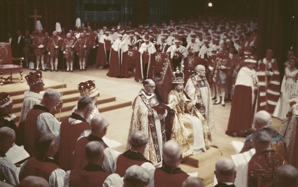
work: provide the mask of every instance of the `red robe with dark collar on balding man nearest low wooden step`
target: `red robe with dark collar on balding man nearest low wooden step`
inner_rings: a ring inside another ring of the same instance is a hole
[[[169,166],[164,164],[161,168],[155,169],[154,186],[181,187],[183,181],[188,177],[189,175],[180,168],[172,170]]]

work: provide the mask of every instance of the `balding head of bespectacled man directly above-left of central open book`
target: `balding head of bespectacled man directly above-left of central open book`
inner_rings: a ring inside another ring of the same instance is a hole
[[[103,138],[106,135],[108,125],[106,116],[102,114],[94,116],[91,120],[91,134]]]

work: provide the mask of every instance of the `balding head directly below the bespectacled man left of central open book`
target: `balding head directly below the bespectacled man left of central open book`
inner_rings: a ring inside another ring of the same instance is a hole
[[[85,146],[85,155],[88,163],[98,163],[103,161],[104,146],[99,141],[91,141]]]

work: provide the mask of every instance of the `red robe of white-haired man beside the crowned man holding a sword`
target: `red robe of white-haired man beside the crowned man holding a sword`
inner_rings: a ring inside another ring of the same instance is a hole
[[[37,128],[37,117],[39,114],[48,112],[49,110],[41,105],[34,105],[27,113],[25,125],[21,133],[22,143],[24,149],[29,153],[31,157],[37,156],[37,150],[35,149],[35,142],[40,136],[40,132]]]

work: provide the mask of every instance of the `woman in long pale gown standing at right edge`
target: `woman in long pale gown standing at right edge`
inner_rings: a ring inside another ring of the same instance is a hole
[[[272,116],[283,120],[289,109],[290,105],[288,101],[290,100],[291,92],[298,92],[298,69],[295,67],[297,65],[297,58],[292,56],[289,59],[289,67],[285,68],[284,77],[282,80],[281,94],[278,99],[277,105]]]

